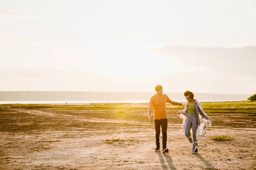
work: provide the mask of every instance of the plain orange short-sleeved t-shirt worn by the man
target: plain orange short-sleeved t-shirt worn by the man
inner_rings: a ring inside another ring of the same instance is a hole
[[[148,107],[153,107],[154,119],[167,119],[166,102],[171,102],[166,94],[151,97]]]

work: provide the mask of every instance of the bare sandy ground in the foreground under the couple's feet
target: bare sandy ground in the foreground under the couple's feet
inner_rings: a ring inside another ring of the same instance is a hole
[[[170,151],[162,153],[154,151],[154,124],[147,121],[146,111],[123,113],[137,115],[127,120],[116,111],[4,109],[0,112],[0,170],[256,169],[255,116],[243,119],[237,114],[239,119],[230,119],[226,126],[213,121],[199,142],[199,152],[192,154],[175,113],[168,115]],[[221,115],[215,114],[215,119],[224,121]],[[228,126],[229,122],[244,126]],[[236,140],[209,140],[222,134]],[[107,139],[124,141],[107,143]]]

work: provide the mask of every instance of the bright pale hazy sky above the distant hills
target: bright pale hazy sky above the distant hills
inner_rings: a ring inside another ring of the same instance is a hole
[[[0,91],[255,94],[255,21],[254,0],[0,0]]]

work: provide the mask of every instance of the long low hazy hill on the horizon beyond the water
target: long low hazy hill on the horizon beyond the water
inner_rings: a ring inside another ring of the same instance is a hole
[[[155,93],[141,92],[81,92],[81,91],[0,91],[0,101],[65,101],[65,100],[149,100]],[[183,93],[166,93],[172,100],[184,100]],[[241,101],[247,94],[195,93],[203,101]]]

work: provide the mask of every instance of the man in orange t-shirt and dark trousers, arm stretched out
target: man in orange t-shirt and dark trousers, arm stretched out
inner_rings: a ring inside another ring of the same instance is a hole
[[[157,85],[155,87],[155,91],[157,94],[151,97],[150,102],[148,104],[148,119],[149,122],[153,123],[153,119],[151,118],[151,110],[154,109],[154,125],[156,130],[156,145],[155,151],[160,150],[160,127],[162,127],[163,134],[163,153],[169,152],[169,149],[166,147],[167,142],[167,110],[166,110],[166,102],[171,103],[172,105],[181,105],[184,108],[182,103],[174,102],[166,94],[163,94],[163,86]]]

